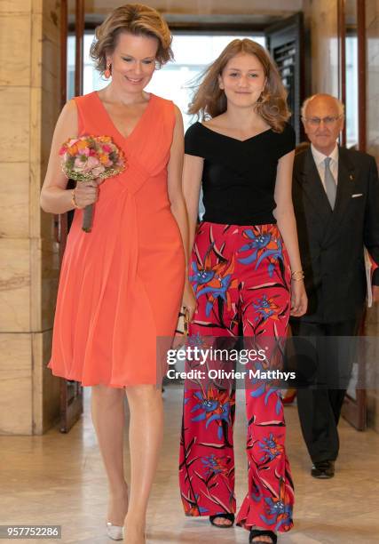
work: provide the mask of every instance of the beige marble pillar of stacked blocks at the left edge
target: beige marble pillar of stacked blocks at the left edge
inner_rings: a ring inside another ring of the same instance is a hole
[[[0,434],[42,434],[59,415],[46,369],[59,275],[39,193],[59,115],[56,0],[0,2]]]

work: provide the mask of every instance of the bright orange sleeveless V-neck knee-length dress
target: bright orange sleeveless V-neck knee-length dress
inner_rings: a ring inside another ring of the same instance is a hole
[[[182,238],[167,188],[174,105],[151,94],[124,138],[97,92],[75,103],[79,135],[112,136],[128,166],[99,186],[91,233],[83,232],[83,211],[75,210],[48,367],[83,386],[155,384],[157,341],[167,343],[175,332],[185,281]]]

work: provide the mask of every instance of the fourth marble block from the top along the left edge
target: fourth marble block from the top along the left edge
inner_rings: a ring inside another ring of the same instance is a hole
[[[30,252],[25,238],[0,238],[0,332],[30,331]]]

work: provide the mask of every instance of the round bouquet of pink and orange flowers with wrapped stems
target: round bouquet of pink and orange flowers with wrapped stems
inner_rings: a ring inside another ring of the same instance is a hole
[[[126,168],[125,156],[110,136],[82,136],[70,138],[59,149],[62,170],[69,180],[85,183],[106,180]],[[85,232],[91,232],[93,204],[84,208]]]

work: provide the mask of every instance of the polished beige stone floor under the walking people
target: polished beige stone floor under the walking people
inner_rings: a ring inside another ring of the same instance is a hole
[[[239,392],[235,428],[236,492],[239,502],[246,484],[243,450],[245,420]],[[85,389],[83,419],[67,434],[52,428],[44,436],[0,436],[0,524],[60,524],[61,540],[108,544],[104,532],[106,480]],[[178,495],[178,434],[181,391],[164,394],[166,428],[159,472],[148,511],[148,544],[247,543],[241,528],[217,530],[207,518],[183,516]],[[293,531],[282,544],[355,543],[379,541],[379,435],[359,433],[340,425],[341,454],[332,480],[314,480],[302,442],[296,406],[286,407],[288,455],[296,484]],[[128,451],[125,452],[126,462]],[[36,540],[18,540],[30,542]]]

